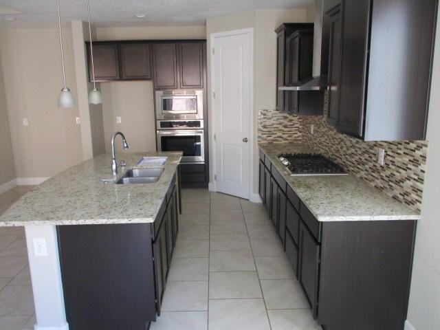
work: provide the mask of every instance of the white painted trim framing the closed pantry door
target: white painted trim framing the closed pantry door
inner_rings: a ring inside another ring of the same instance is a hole
[[[215,134],[215,123],[214,123],[214,112],[215,112],[215,108],[214,108],[214,97],[213,97],[213,93],[212,93],[212,87],[214,86],[214,58],[213,58],[213,54],[212,54],[212,48],[214,47],[214,39],[221,37],[221,36],[235,36],[237,34],[250,34],[250,126],[249,126],[249,132],[250,132],[250,137],[249,137],[249,144],[250,144],[250,150],[249,150],[249,166],[250,166],[250,170],[249,170],[249,197],[250,200],[253,199],[252,195],[253,195],[253,191],[254,191],[254,28],[245,28],[245,29],[240,29],[240,30],[232,30],[232,31],[223,31],[223,32],[216,32],[216,33],[212,33],[210,34],[210,47],[211,49],[208,50],[209,54],[210,54],[210,67],[211,67],[211,91],[210,91],[210,108],[211,108],[211,116],[210,116],[210,122],[211,122],[211,133],[210,133],[210,140],[212,142],[212,145],[210,146],[210,150],[212,150],[212,178],[214,178],[215,173],[217,172],[216,170],[216,155],[215,155],[215,140],[214,140],[214,134]],[[209,190],[211,191],[217,191],[217,186],[216,186],[216,182],[214,181],[212,184],[210,182],[210,187]],[[213,188],[212,188],[213,187]]]

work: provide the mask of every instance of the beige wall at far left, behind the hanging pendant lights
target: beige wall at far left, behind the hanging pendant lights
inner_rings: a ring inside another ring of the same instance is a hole
[[[72,32],[63,30],[67,85],[76,100]],[[58,29],[0,33],[0,56],[17,177],[51,177],[83,160],[78,108],[61,109]],[[23,126],[28,118],[29,126]],[[2,156],[3,157],[3,156]]]

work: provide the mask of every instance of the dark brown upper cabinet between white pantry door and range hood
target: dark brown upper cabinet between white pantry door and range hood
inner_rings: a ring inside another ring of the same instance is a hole
[[[284,23],[277,34],[276,109],[285,113],[320,115],[323,91],[281,91],[278,87],[303,85],[312,76],[313,23]]]

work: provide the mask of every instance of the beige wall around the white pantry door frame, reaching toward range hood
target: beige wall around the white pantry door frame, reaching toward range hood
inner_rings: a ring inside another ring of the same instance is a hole
[[[310,9],[309,9],[310,11]],[[258,194],[258,146],[257,146],[257,114],[259,109],[274,109],[276,106],[276,33],[274,30],[281,23],[307,22],[312,14],[307,14],[307,9],[292,10],[254,10],[223,17],[208,18],[206,20],[206,39],[208,50],[210,35],[215,32],[254,29],[254,177],[252,178],[254,194]],[[210,54],[210,52],[208,52]],[[210,56],[208,56],[208,86],[210,87]],[[212,91],[208,89],[208,96]],[[208,115],[211,115],[211,102],[208,97]],[[210,123],[211,124],[211,123]],[[210,125],[212,132],[212,125]],[[210,146],[213,141],[210,137]],[[213,159],[213,148],[210,148],[210,159]],[[210,163],[210,181],[213,180],[212,163]]]

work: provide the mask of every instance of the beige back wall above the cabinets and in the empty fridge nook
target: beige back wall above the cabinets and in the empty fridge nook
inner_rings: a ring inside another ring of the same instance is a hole
[[[99,41],[206,38],[204,26],[98,28],[96,33]],[[117,81],[101,83],[100,86],[106,152],[111,152],[110,139],[115,131],[125,134],[130,146],[127,152],[155,151],[152,81]],[[118,115],[121,116],[122,124],[116,124]],[[116,150],[122,151],[119,142]]]

